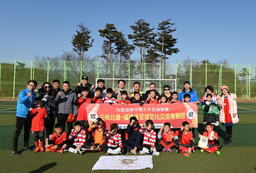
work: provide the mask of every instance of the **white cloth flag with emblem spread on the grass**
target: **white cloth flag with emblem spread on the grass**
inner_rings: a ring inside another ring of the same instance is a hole
[[[93,170],[97,169],[145,169],[153,168],[152,155],[143,156],[101,156]]]

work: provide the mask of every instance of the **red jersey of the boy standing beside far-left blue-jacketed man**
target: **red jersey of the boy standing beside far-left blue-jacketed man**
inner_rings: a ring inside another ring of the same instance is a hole
[[[46,108],[32,108],[30,116],[32,118],[31,130],[33,132],[44,131],[44,118],[47,118]]]

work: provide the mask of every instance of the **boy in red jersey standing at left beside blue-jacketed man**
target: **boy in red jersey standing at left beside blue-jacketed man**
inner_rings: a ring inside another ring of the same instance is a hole
[[[47,111],[42,107],[41,97],[36,97],[34,104],[36,108],[29,108],[27,118],[32,118],[31,130],[36,145],[35,153],[44,152],[44,127],[47,123]],[[40,147],[39,147],[40,140]]]

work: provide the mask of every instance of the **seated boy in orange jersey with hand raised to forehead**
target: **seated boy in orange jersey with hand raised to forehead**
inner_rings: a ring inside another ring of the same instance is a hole
[[[103,120],[101,118],[97,118],[91,127],[89,127],[89,132],[94,132],[94,142],[90,144],[86,144],[86,148],[95,148],[93,152],[102,151],[105,146],[107,146],[107,130],[102,126]],[[97,127],[95,127],[97,125]]]

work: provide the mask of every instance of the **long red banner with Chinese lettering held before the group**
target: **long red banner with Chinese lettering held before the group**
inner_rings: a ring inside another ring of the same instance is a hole
[[[101,118],[103,127],[109,129],[111,123],[117,123],[119,128],[125,129],[130,123],[131,116],[136,116],[139,124],[152,120],[154,128],[160,128],[165,122],[171,128],[180,128],[182,122],[187,121],[189,127],[198,127],[198,110],[196,102],[175,104],[86,104],[89,124]]]

